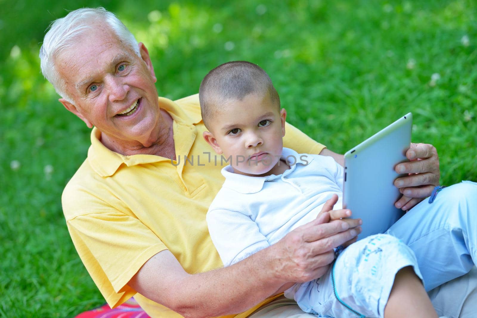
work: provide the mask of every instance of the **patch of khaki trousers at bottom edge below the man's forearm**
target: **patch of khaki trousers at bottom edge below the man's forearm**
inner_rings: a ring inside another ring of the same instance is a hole
[[[310,318],[315,317],[303,312],[297,303],[281,296],[255,310],[250,318]]]

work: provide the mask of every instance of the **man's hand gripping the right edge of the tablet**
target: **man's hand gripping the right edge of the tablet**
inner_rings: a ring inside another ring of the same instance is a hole
[[[431,195],[439,185],[439,156],[433,145],[411,143],[406,151],[409,162],[403,162],[394,168],[397,173],[408,173],[407,177],[397,178],[394,185],[403,194],[394,204],[396,208],[408,210]]]

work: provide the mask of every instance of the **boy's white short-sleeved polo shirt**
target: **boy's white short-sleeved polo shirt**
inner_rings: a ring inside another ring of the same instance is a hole
[[[212,241],[224,266],[249,257],[316,218],[333,194],[342,207],[343,168],[332,157],[283,148],[290,169],[249,177],[222,169],[226,178],[207,212]]]

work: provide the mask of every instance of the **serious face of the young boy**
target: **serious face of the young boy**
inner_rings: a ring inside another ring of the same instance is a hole
[[[272,103],[268,93],[252,93],[242,100],[228,102],[225,110],[216,111],[210,132],[205,131],[203,136],[218,154],[226,159],[231,157],[236,173],[273,173],[283,148],[286,115],[285,109],[279,111]]]

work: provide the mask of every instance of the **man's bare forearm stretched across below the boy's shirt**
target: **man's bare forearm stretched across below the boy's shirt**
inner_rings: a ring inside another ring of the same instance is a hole
[[[185,275],[162,290],[162,302],[184,317],[211,317],[243,312],[283,285],[274,277],[267,250],[227,268]]]

